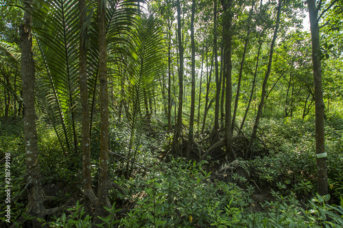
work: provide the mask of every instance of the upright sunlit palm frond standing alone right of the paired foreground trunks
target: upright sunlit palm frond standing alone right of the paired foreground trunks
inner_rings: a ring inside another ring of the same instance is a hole
[[[128,160],[131,159],[134,131],[144,123],[142,107],[145,101],[154,97],[154,88],[163,71],[163,47],[161,30],[153,15],[142,16],[132,32],[131,58],[128,58],[127,72],[123,78],[126,99],[126,116],[130,125],[130,146]],[[136,155],[134,154],[134,157]],[[134,158],[133,158],[134,160]],[[128,176],[129,164],[126,166]]]

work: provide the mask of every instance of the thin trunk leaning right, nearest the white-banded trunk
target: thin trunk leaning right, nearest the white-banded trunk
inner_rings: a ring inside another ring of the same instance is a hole
[[[248,157],[250,157],[249,149],[250,149],[250,146],[252,145],[252,142],[254,142],[254,140],[256,138],[257,128],[259,127],[259,120],[261,118],[262,111],[263,111],[263,104],[264,104],[264,100],[265,100],[265,94],[267,92],[268,77],[269,77],[270,71],[272,69],[274,45],[275,45],[275,41],[276,41],[278,30],[279,30],[280,14],[281,14],[281,1],[282,0],[279,0],[279,5],[278,5],[278,8],[277,8],[278,11],[277,11],[277,15],[276,15],[276,25],[275,25],[275,29],[274,29],[274,35],[273,35],[273,38],[272,38],[272,44],[270,45],[268,67],[267,67],[267,71],[265,73],[265,77],[264,77],[264,80],[263,80],[261,101],[260,101],[259,107],[257,109],[257,115],[256,115],[256,118],[255,118],[255,124],[254,124],[254,127],[252,129],[251,139],[250,139],[248,148],[246,150],[246,159],[248,159]]]

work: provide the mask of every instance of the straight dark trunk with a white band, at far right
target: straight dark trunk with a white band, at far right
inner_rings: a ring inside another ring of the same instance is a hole
[[[320,1],[322,3],[322,1]],[[309,8],[309,22],[312,40],[312,64],[314,69],[314,102],[316,105],[316,155],[318,168],[318,194],[328,194],[327,183],[327,153],[324,141],[324,101],[322,96],[322,64],[320,55],[320,27],[318,25],[318,11],[322,5],[316,6],[316,0],[307,0]]]

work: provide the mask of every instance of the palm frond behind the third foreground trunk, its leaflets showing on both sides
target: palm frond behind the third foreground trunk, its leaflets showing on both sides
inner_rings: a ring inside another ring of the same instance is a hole
[[[108,62],[116,63],[121,61],[121,54],[128,55],[126,47],[128,39],[123,36],[128,36],[128,31],[137,22],[136,17],[140,14],[138,4],[142,0],[115,0],[108,1],[106,8],[106,44],[108,51]],[[95,9],[95,3],[88,5],[88,9]],[[91,105],[91,123],[95,110],[95,98],[97,92],[97,73],[98,73],[98,34],[97,34],[97,15],[94,13],[93,20],[90,25],[90,33],[88,33],[88,88],[91,90],[90,105]],[[115,74],[115,71],[108,71],[108,75]],[[92,127],[91,127],[92,129]]]

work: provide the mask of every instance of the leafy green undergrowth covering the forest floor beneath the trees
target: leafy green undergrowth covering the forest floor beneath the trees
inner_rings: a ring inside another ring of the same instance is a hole
[[[343,123],[328,116],[326,151],[329,194],[316,195],[314,123],[296,118],[263,118],[251,160],[194,162],[181,158],[161,160],[168,137],[142,134],[134,140],[137,151],[130,179],[121,177],[125,162],[111,155],[110,179],[122,190],[110,190],[113,208],[102,227],[342,227],[343,225]],[[247,123],[247,126],[251,123]],[[1,126],[0,152],[11,151],[14,188],[18,195],[13,219],[25,215],[25,153],[21,129]],[[62,153],[49,127],[39,129],[40,168],[43,184],[58,180],[81,186],[78,170],[70,170],[69,155]],[[97,136],[98,132],[93,133]],[[95,137],[96,138],[96,137]],[[93,148],[97,142],[93,141]],[[125,127],[110,127],[110,150],[128,153]],[[261,148],[259,148],[261,147]],[[263,148],[262,148],[263,147]],[[157,152],[158,151],[158,152]],[[93,151],[93,178],[97,179],[97,150]],[[209,159],[210,160],[210,159]],[[143,167],[142,167],[143,166]],[[225,168],[224,172],[219,171]],[[1,178],[3,178],[1,173]],[[17,178],[17,179],[16,179]],[[95,183],[96,184],[96,183]],[[22,195],[21,195],[22,194]],[[262,199],[257,201],[257,195]],[[1,192],[1,200],[5,197]],[[67,201],[69,196],[60,196]],[[55,199],[63,203],[61,199]],[[79,200],[82,198],[80,197]],[[47,227],[91,227],[82,203],[43,221]]]

